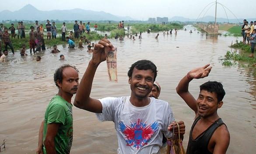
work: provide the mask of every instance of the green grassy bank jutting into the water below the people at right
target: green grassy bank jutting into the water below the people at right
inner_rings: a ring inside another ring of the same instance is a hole
[[[234,66],[241,65],[243,67],[254,67],[256,70],[256,57],[250,58],[248,57],[251,53],[251,47],[249,45],[243,44],[242,42],[236,41],[235,44],[230,47],[234,49],[239,49],[238,52],[230,52],[227,51],[225,54],[225,59],[222,60],[222,65],[224,66]],[[255,71],[256,72],[256,71]]]

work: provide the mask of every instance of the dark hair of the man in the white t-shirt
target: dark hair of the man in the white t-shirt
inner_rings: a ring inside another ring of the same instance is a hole
[[[154,73],[154,81],[156,80],[157,76],[157,70],[156,70],[156,65],[152,63],[150,60],[138,60],[134,64],[131,65],[130,70],[128,70],[128,77],[132,76],[132,72],[134,68],[138,70],[152,70]]]

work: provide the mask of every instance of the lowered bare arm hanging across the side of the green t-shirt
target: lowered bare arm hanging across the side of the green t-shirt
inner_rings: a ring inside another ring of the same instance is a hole
[[[54,138],[59,130],[58,123],[52,123],[47,125],[47,133],[44,141],[47,154],[56,154]]]

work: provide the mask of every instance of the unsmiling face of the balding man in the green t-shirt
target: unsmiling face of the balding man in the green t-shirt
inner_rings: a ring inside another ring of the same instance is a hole
[[[77,71],[72,67],[66,67],[62,71],[62,82],[57,80],[57,84],[64,93],[73,95],[76,94],[79,85],[78,80]]]

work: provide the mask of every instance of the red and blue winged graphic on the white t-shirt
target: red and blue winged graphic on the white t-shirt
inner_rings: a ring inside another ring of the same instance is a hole
[[[127,146],[133,146],[137,149],[143,147],[151,141],[151,137],[158,130],[159,123],[147,125],[142,123],[140,119],[137,119],[135,123],[130,123],[130,126],[126,126],[124,122],[119,123],[119,131],[121,131],[126,137],[125,142]]]

